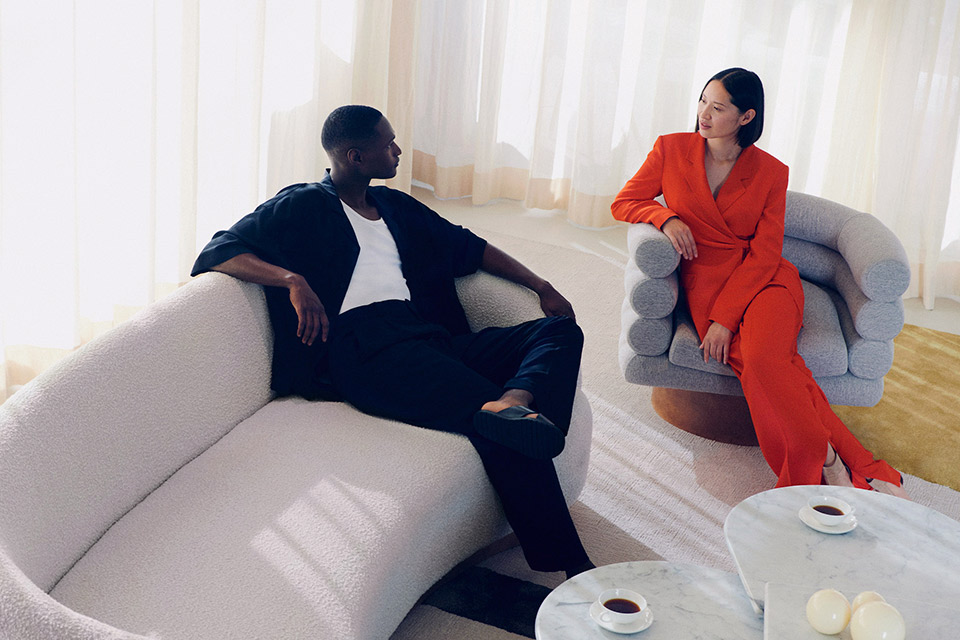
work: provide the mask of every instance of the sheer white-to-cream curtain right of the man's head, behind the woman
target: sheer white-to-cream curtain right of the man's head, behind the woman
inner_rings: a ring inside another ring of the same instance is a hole
[[[910,296],[960,296],[960,0],[422,0],[414,177],[440,197],[609,204],[717,71],[756,71],[790,188],[881,218]]]

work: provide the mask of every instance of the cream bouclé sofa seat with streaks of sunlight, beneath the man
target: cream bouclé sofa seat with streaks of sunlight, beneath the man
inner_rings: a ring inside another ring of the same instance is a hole
[[[558,458],[568,495],[589,423],[579,394]],[[385,639],[506,531],[466,438],[285,398],[121,518],[51,595],[159,638]]]

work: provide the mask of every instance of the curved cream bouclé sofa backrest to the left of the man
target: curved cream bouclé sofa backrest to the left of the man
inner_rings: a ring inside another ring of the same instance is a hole
[[[271,354],[262,289],[208,274],[18,391],[0,406],[0,554],[49,591],[270,400]]]

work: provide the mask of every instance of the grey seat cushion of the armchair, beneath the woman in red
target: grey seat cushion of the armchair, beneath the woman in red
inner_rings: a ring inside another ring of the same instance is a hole
[[[803,328],[797,341],[800,355],[814,377],[843,375],[847,371],[847,343],[840,329],[837,308],[830,295],[815,284],[803,285]],[[670,362],[707,373],[732,376],[729,365],[703,361],[700,338],[689,314],[678,314],[677,330],[670,344]]]

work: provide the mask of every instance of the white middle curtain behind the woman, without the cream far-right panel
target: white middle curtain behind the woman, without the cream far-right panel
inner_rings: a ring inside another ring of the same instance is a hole
[[[518,198],[608,226],[656,137],[691,129],[704,83],[731,66],[765,79],[761,145],[791,164],[794,188],[819,190],[849,1],[424,0],[421,12],[416,169],[441,197]]]

